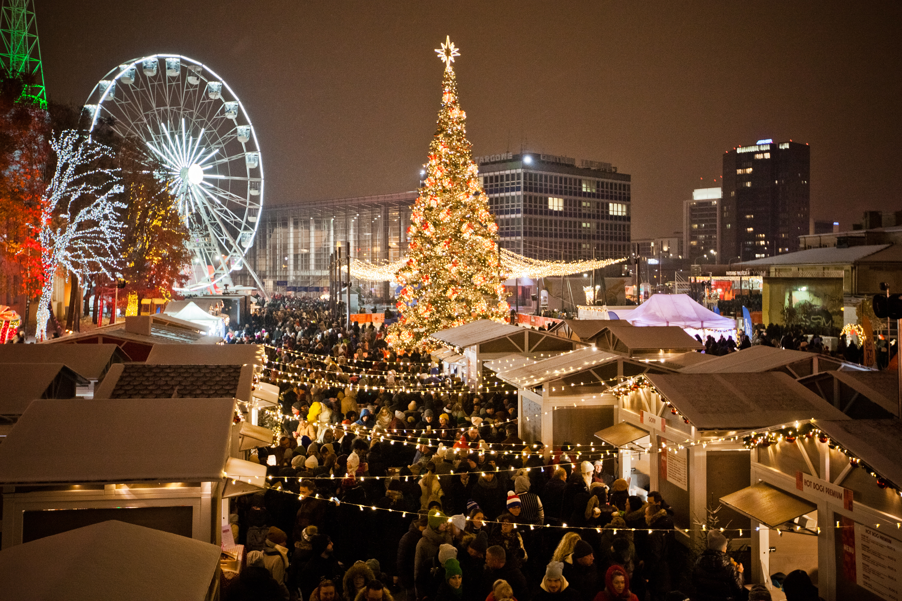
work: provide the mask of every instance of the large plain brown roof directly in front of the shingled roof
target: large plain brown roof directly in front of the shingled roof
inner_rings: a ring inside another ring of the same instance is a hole
[[[36,400],[0,444],[0,483],[223,478],[233,398]]]

